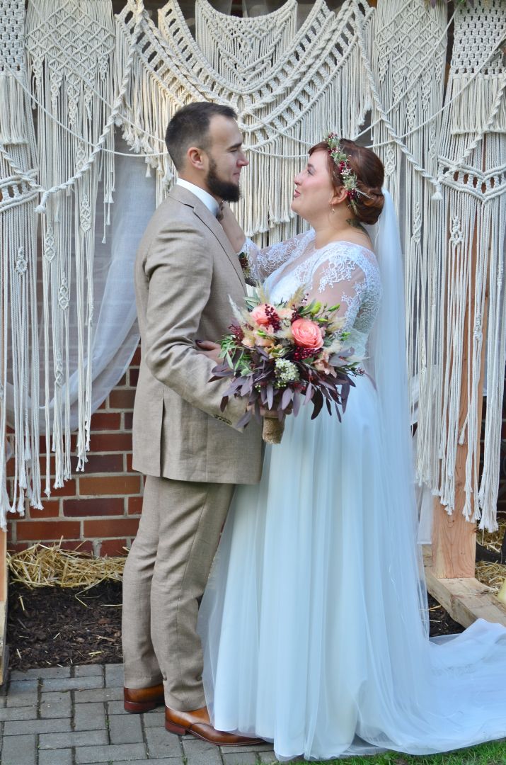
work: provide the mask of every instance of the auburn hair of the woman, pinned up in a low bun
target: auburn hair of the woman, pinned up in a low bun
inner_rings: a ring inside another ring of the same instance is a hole
[[[381,210],[383,210],[384,196],[381,187],[384,181],[384,167],[378,155],[365,146],[359,146],[355,141],[349,141],[342,138],[339,146],[348,157],[348,162],[352,172],[357,177],[358,194],[354,200],[354,206],[349,203],[349,208],[360,223],[372,225],[378,220]],[[332,184],[336,189],[342,187],[342,179],[339,175],[339,168],[329,154],[329,145],[322,141],[310,149],[310,155],[313,151],[324,149],[329,156],[329,172],[332,178]],[[355,208],[355,209],[354,209]]]

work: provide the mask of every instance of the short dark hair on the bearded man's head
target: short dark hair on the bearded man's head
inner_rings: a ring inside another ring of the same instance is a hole
[[[209,149],[209,123],[215,115],[237,119],[232,106],[197,101],[183,106],[167,125],[165,143],[176,170],[183,164],[190,146]]]

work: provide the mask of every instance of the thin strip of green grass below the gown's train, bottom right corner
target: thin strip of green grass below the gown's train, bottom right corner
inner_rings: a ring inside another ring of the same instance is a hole
[[[506,726],[506,721],[504,724]],[[445,754],[415,756],[413,754],[384,752],[384,754],[375,754],[372,757],[345,757],[341,760],[312,761],[312,765],[506,765],[506,741],[489,741],[478,747],[458,749]]]

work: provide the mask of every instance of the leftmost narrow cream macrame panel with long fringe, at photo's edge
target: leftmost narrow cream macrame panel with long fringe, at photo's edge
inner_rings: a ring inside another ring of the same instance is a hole
[[[0,0],[0,527],[41,507],[38,462],[37,148],[24,63],[24,0]],[[7,412],[12,418],[8,423]],[[7,425],[14,430],[7,437]],[[8,438],[8,441],[7,441]],[[7,457],[14,491],[6,490]]]

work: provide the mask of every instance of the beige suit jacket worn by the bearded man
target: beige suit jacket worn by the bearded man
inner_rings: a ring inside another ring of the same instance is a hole
[[[209,483],[256,483],[261,428],[235,426],[245,402],[220,402],[227,382],[209,382],[215,363],[195,340],[218,342],[245,281],[222,226],[190,190],[174,186],[155,211],[135,262],[141,369],[135,394],[133,467]]]

